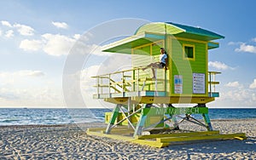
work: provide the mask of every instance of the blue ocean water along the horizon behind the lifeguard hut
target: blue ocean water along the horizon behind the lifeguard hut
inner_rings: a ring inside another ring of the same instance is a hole
[[[0,108],[0,126],[31,124],[103,123],[111,109]],[[201,118],[199,115],[195,115]],[[256,108],[209,108],[211,119],[256,118]]]

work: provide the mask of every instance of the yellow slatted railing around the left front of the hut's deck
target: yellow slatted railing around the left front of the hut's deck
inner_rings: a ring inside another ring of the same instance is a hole
[[[166,78],[149,78],[141,68],[116,71],[93,78],[96,78],[96,85],[94,86],[96,87],[96,94],[117,94],[143,90],[166,91],[166,87],[164,87],[166,86]]]

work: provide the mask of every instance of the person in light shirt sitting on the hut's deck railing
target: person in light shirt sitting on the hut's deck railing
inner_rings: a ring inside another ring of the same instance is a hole
[[[167,70],[167,61],[168,61],[168,57],[166,54],[166,50],[164,48],[160,48],[160,57],[159,57],[159,61],[155,62],[155,63],[151,63],[148,66],[143,68],[143,71],[146,70],[147,68],[151,68],[152,69],[152,73],[153,73],[153,79],[155,79],[155,72],[154,69],[155,68],[166,68]]]

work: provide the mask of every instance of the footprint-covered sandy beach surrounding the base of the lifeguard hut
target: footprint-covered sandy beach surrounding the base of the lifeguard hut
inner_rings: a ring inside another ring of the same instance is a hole
[[[256,119],[213,120],[221,133],[246,133],[247,140],[219,140],[153,148],[91,137],[104,123],[0,127],[0,159],[256,159]],[[189,129],[193,125],[186,126]]]

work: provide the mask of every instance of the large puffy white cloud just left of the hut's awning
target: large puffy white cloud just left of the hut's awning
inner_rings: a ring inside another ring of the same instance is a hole
[[[53,56],[67,55],[70,49],[73,49],[72,52],[75,54],[109,55],[109,53],[102,53],[100,46],[86,43],[86,41],[88,41],[88,38],[82,37],[79,34],[67,37],[61,34],[46,33],[41,36],[41,39],[22,40],[20,42],[20,49],[25,51],[39,51],[42,49],[44,53]]]

